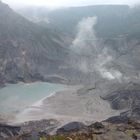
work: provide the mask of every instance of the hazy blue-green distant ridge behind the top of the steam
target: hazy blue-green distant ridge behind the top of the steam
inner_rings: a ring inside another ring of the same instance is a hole
[[[98,18],[98,24],[95,27],[97,36],[112,38],[139,31],[139,9],[139,6],[130,8],[127,5],[95,5],[52,11],[45,7],[25,7],[17,11],[40,25],[53,26],[68,34],[75,34],[75,26],[82,18],[96,16]]]

